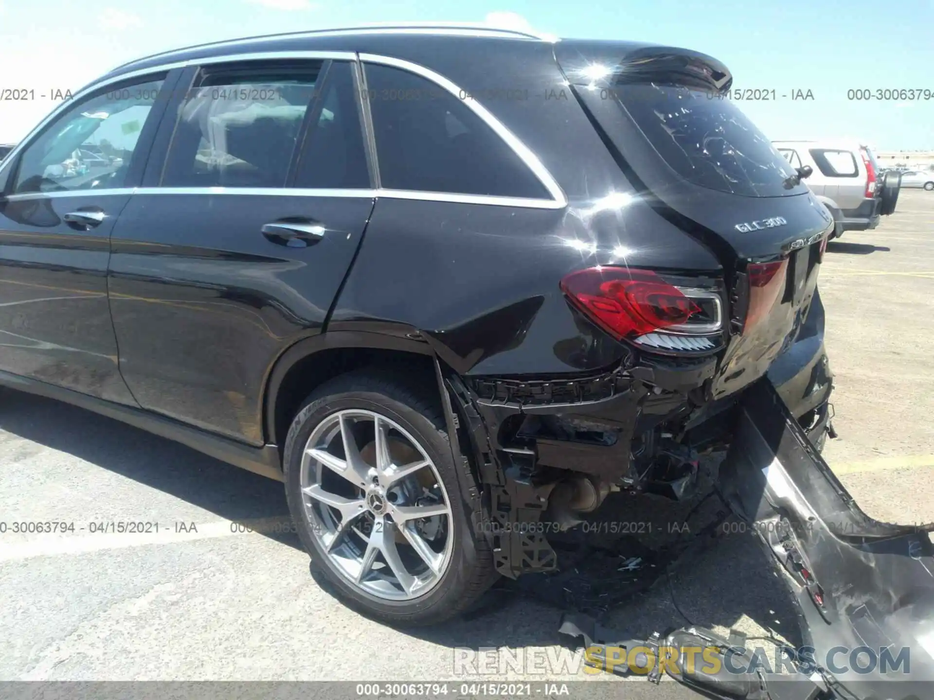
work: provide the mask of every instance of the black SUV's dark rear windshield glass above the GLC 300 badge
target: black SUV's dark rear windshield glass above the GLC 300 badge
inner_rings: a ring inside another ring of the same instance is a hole
[[[747,197],[804,191],[785,184],[794,168],[729,99],[657,83],[620,83],[608,92],[686,180]]]

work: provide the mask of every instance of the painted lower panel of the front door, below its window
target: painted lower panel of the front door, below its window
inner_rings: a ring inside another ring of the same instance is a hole
[[[109,235],[126,195],[0,202],[0,370],[135,405],[107,302]],[[99,208],[87,231],[64,221]]]

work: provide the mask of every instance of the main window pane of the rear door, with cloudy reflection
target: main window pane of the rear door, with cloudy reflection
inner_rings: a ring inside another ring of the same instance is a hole
[[[163,187],[282,188],[319,63],[211,70],[186,96]]]

